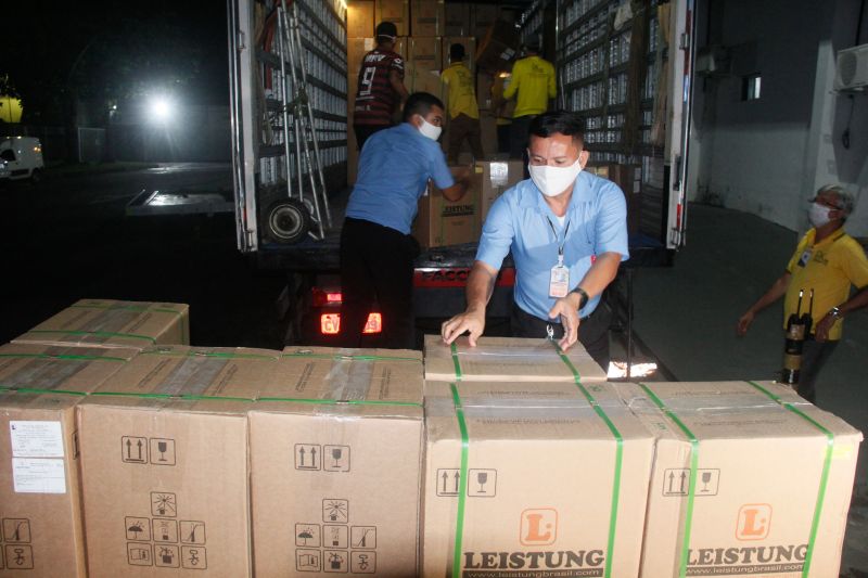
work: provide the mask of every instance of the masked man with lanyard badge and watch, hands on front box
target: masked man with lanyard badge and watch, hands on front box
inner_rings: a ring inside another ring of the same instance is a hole
[[[531,179],[492,206],[468,278],[468,308],[443,324],[446,343],[469,332],[476,344],[497,273],[512,252],[513,335],[546,337],[551,331],[563,349],[578,339],[609,368],[611,312],[600,295],[628,258],[627,208],[616,184],[582,170],[588,162],[583,127],[566,112],[532,121]]]

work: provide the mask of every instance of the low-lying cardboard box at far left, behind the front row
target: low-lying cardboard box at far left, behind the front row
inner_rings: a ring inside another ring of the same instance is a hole
[[[175,303],[81,299],[13,343],[143,349],[190,343],[189,307]]]

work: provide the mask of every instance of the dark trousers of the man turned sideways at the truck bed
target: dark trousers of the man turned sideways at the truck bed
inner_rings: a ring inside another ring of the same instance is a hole
[[[382,314],[385,347],[414,347],[413,259],[418,255],[419,244],[410,235],[362,219],[344,220],[341,232],[344,347],[361,347],[361,332],[368,313],[373,310]]]

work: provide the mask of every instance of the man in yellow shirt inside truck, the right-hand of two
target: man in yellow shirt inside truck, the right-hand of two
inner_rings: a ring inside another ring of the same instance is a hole
[[[539,57],[539,47],[528,44],[525,56],[512,66],[512,78],[503,90],[509,100],[518,93],[515,112],[512,113],[510,132],[510,158],[523,158],[527,147],[527,130],[531,120],[549,110],[549,99],[558,94],[554,66]]]

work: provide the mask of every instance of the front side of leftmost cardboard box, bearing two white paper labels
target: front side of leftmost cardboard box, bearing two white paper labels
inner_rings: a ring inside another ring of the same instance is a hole
[[[75,407],[0,391],[0,576],[86,578]]]

